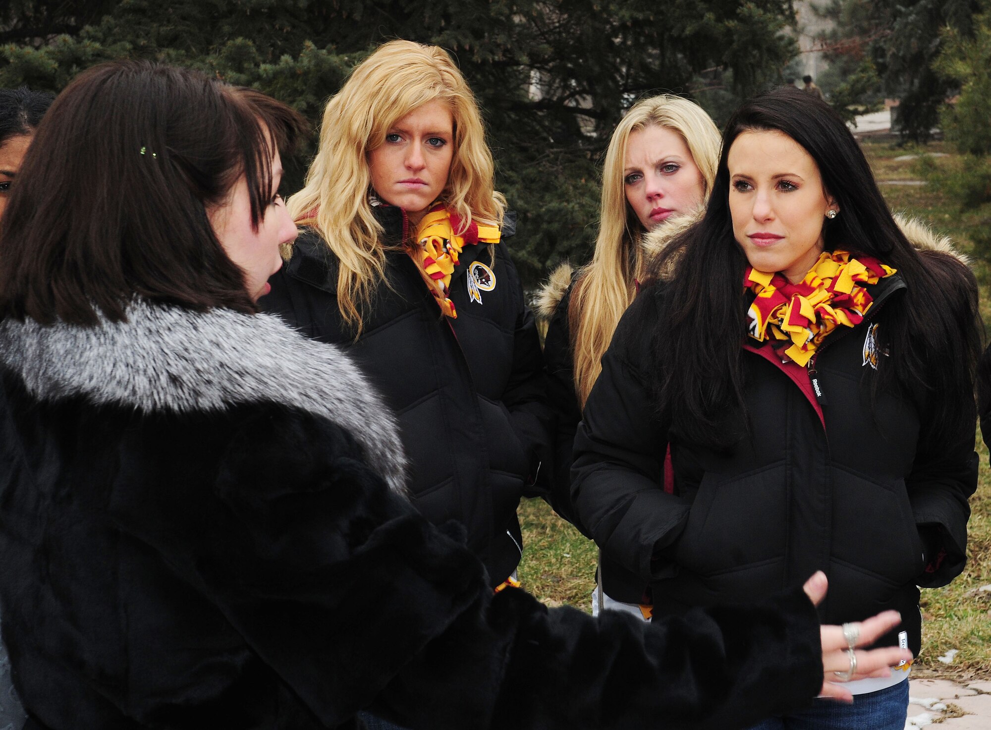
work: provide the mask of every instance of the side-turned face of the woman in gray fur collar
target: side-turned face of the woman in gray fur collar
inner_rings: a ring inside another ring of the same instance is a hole
[[[282,179],[282,162],[278,152],[272,161],[273,185],[278,189]],[[251,197],[244,176],[234,183],[227,201],[210,209],[210,222],[227,256],[241,267],[245,288],[252,301],[269,294],[269,277],[282,265],[278,246],[296,237],[295,223],[281,196],[275,194],[259,221],[258,229],[251,224]]]

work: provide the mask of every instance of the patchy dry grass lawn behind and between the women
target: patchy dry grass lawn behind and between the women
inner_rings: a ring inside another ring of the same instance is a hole
[[[864,152],[879,181],[918,180],[915,161],[895,158],[919,152],[951,150],[940,143],[924,150],[898,148],[887,142],[868,141]],[[950,155],[938,158],[936,165],[959,164]],[[882,185],[888,204],[930,222],[941,233],[953,237],[960,250],[974,258],[974,269],[981,284],[982,312],[991,315],[991,267],[976,255],[972,234],[991,225],[991,205],[961,212],[952,200],[931,186]],[[924,590],[921,609],[924,616],[923,653],[918,668],[921,674],[938,674],[957,678],[991,675],[991,470],[988,452],[978,444],[981,459],[976,494],[971,499],[973,514],[969,524],[968,562],[963,574],[945,588]],[[582,535],[557,517],[539,500],[520,505],[525,551],[519,574],[523,585],[541,600],[558,605],[570,604],[589,610],[590,593],[595,582],[596,548]],[[951,664],[936,660],[948,650],[958,654]]]

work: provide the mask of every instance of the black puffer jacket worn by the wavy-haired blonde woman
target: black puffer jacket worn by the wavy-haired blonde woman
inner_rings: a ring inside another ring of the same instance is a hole
[[[349,354],[397,414],[417,509],[436,525],[454,519],[489,568],[494,585],[519,561],[521,496],[543,494],[549,479],[550,410],[533,316],[505,245],[466,246],[450,285],[457,319],[441,315],[415,265],[397,248],[400,208],[379,206],[389,286],[380,286],[361,337],[337,306],[337,262],[305,231],[271,280],[262,306]],[[513,233],[507,216],[502,237]],[[491,250],[495,250],[493,262]],[[466,276],[492,274],[482,303],[469,301]]]

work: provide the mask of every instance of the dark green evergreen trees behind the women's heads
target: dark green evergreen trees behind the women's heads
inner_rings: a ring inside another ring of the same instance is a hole
[[[14,20],[45,4],[17,2]],[[712,85],[703,71],[730,79],[725,91],[740,98],[779,80],[795,54],[781,33],[790,0],[106,0],[103,9],[84,28],[56,24],[65,35],[0,47],[0,85],[58,90],[94,63],[151,59],[255,86],[316,122],[382,42],[448,49],[486,116],[496,182],[520,215],[511,250],[531,283],[562,257],[587,256],[599,160],[633,101],[691,96]]]

